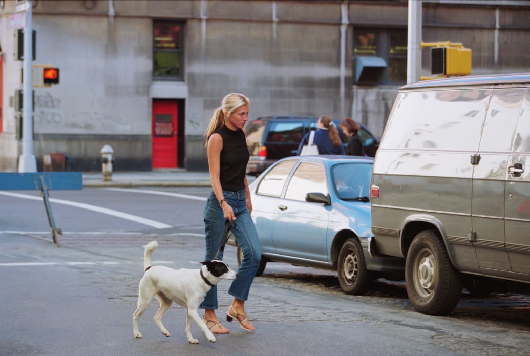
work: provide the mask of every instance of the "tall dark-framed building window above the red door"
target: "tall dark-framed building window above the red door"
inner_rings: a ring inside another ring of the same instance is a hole
[[[153,79],[183,80],[182,22],[153,22]]]

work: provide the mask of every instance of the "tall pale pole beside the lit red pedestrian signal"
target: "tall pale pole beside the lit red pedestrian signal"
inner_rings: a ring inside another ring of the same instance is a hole
[[[36,172],[37,161],[33,155],[33,26],[31,23],[31,0],[27,0],[24,27],[23,99],[22,99],[22,155],[19,157],[19,172]]]

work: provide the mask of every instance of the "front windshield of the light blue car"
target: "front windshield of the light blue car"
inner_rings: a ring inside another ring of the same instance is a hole
[[[372,164],[343,163],[331,169],[335,192],[341,199],[355,199],[370,195]]]

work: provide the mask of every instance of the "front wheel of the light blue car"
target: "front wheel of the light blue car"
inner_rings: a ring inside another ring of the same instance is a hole
[[[357,239],[346,240],[339,253],[337,267],[340,288],[347,294],[365,294],[372,281],[366,269],[363,249]]]

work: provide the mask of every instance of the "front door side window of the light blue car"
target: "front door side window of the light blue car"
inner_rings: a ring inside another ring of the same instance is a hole
[[[302,162],[289,181],[285,198],[305,202],[305,195],[310,192],[328,194],[324,167],[320,164]]]

